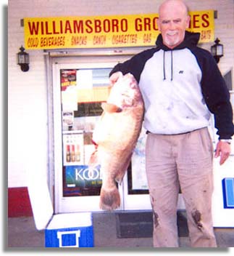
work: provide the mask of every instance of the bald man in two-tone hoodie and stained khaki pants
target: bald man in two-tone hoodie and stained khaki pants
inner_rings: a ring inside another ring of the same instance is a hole
[[[210,52],[190,33],[188,7],[167,0],[159,7],[156,47],[117,64],[110,81],[132,73],[144,100],[146,175],[154,213],[154,247],[178,247],[181,189],[192,247],[217,247],[212,224],[213,155],[208,126],[214,114],[223,164],[234,134],[230,95]]]

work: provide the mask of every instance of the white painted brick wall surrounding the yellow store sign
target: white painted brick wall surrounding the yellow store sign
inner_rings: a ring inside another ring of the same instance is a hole
[[[46,70],[42,50],[28,50],[30,70],[20,71],[16,53],[24,46],[24,17],[129,15],[155,13],[156,0],[9,0],[8,5],[8,186],[28,185],[27,172],[47,172],[47,95]],[[226,73],[234,66],[233,0],[186,1],[191,10],[217,9],[215,37],[225,47],[220,69]],[[221,4],[222,3],[222,4]],[[202,47],[210,49],[212,43]]]

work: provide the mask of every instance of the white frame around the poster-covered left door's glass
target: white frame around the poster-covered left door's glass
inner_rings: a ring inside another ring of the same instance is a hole
[[[99,196],[63,196],[62,175],[62,116],[61,116],[61,69],[113,68],[114,62],[60,63],[52,64],[53,111],[54,111],[54,210],[55,213],[100,211]],[[120,186],[120,193],[122,188]],[[120,209],[123,209],[122,205]]]

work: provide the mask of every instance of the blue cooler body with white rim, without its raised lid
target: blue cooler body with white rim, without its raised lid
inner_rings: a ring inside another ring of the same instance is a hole
[[[91,212],[54,215],[45,230],[45,247],[93,247]]]

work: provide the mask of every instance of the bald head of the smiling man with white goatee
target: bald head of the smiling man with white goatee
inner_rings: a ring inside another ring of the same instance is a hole
[[[158,27],[163,43],[173,49],[185,38],[190,17],[188,7],[182,0],[166,0],[159,7]]]

